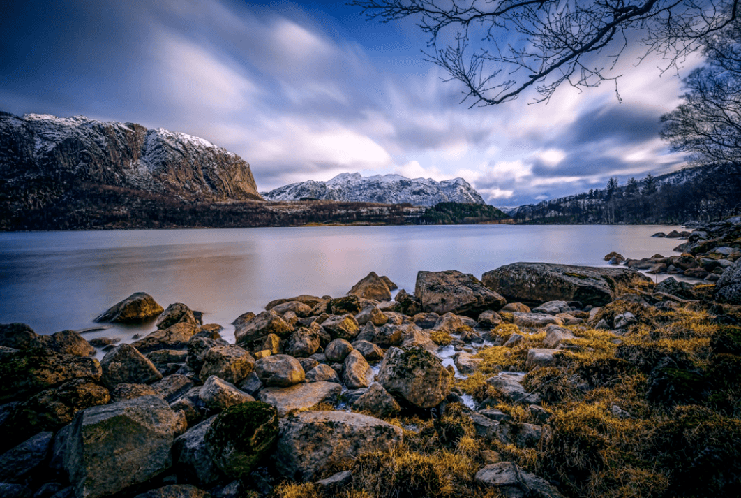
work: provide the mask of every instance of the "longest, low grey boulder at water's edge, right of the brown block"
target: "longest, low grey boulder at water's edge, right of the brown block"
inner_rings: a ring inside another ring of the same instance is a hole
[[[650,283],[651,278],[624,268],[512,263],[486,272],[482,282],[508,301],[578,301],[602,306],[614,300],[619,286]]]

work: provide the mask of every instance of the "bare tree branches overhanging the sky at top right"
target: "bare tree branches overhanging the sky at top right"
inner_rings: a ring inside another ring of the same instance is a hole
[[[741,0],[352,0],[368,19],[413,16],[430,36],[426,59],[463,83],[464,101],[496,105],[535,89],[588,88],[617,78],[629,45],[665,69],[736,19]],[[510,36],[510,35],[513,36]],[[619,98],[619,94],[618,98]]]

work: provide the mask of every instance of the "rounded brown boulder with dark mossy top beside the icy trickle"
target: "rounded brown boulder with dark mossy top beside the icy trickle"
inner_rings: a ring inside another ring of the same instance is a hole
[[[378,374],[379,383],[389,393],[419,408],[440,404],[451,391],[452,377],[428,350],[398,347],[388,350]]]

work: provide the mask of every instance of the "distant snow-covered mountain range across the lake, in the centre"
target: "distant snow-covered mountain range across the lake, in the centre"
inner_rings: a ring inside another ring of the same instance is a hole
[[[398,174],[363,177],[359,173],[342,173],[328,182],[308,180],[291,183],[261,194],[265,200],[279,201],[318,199],[383,204],[409,203],[413,206],[434,206],[443,202],[485,204],[479,193],[462,178],[436,182],[430,178],[411,180]]]

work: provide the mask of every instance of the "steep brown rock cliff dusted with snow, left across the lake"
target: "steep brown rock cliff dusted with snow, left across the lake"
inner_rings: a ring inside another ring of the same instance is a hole
[[[130,122],[0,113],[6,206],[44,206],[85,184],[190,201],[260,198],[249,164],[198,137]]]

